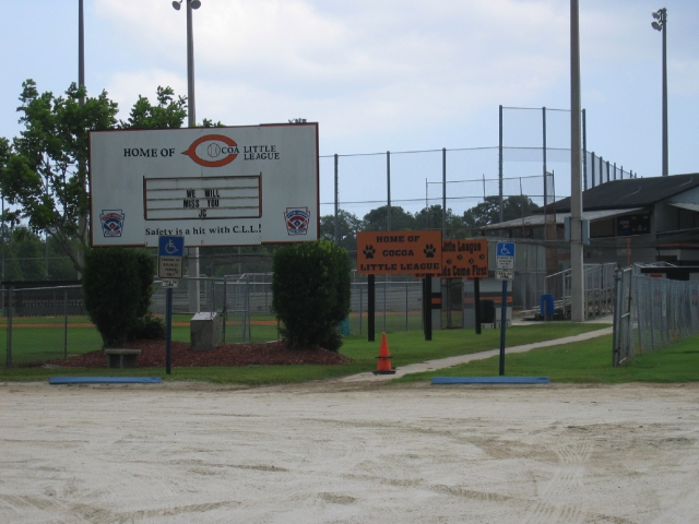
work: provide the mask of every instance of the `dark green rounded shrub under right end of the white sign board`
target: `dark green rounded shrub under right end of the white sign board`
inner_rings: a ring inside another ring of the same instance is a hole
[[[347,252],[329,240],[286,246],[272,262],[272,308],[289,347],[342,345],[337,324],[350,313]]]

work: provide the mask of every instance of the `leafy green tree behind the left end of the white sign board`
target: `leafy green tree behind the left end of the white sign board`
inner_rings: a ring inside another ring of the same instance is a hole
[[[70,257],[73,267],[82,272],[83,253],[88,248],[88,132],[180,128],[187,100],[175,97],[170,87],[158,86],[155,105],[139,96],[129,118],[117,122],[117,104],[105,91],[95,98],[85,97],[81,105],[86,91],[74,83],[59,97],[50,92],[39,94],[33,80],[22,87],[17,110],[24,130],[12,145],[0,140],[0,190],[12,205],[3,219],[11,224],[25,221],[33,231],[48,233]]]

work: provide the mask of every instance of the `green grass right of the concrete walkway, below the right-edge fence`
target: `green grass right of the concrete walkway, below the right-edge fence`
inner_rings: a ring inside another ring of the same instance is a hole
[[[452,368],[413,373],[393,380],[404,383],[431,380],[433,377],[495,377],[499,357],[476,360]],[[612,367],[612,335],[578,344],[550,346],[528,353],[507,355],[508,377],[549,377],[552,382],[695,382],[699,381],[699,335],[655,353],[639,355],[628,365]]]

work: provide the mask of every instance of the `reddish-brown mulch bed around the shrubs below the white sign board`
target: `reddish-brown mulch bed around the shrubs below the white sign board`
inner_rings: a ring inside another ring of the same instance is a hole
[[[139,368],[165,367],[165,341],[137,341],[120,346],[125,349],[141,349]],[[324,365],[333,366],[351,362],[352,359],[327,349],[289,349],[286,342],[263,344],[221,344],[215,349],[201,352],[191,349],[185,342],[171,343],[171,366],[174,368],[210,366],[284,366]],[[91,352],[68,359],[33,364],[32,367],[60,366],[61,368],[106,368],[104,352]]]

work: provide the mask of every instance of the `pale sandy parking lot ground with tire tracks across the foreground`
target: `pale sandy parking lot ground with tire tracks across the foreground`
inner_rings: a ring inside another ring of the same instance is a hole
[[[0,384],[2,523],[699,522],[699,385]]]

